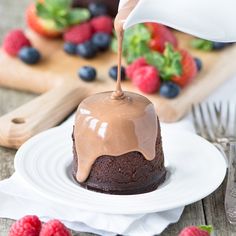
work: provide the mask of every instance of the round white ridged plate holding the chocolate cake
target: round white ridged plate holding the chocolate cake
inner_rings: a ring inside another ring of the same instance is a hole
[[[85,190],[70,174],[71,129],[53,128],[27,141],[17,152],[15,169],[38,193],[67,206],[111,214],[165,211],[196,202],[223,181],[225,160],[201,137],[178,129],[162,129],[168,178],[156,191],[109,195]],[[92,147],[91,147],[92,148]]]

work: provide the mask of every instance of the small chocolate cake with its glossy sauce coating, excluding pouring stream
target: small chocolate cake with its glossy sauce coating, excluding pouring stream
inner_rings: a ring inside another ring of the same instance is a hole
[[[80,104],[73,131],[73,176],[84,188],[109,194],[157,189],[166,176],[160,126],[145,97],[95,94]]]

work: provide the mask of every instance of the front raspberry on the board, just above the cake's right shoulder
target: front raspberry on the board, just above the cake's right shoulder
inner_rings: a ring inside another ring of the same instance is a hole
[[[135,70],[133,83],[144,93],[155,93],[160,87],[160,78],[154,66],[143,66]]]

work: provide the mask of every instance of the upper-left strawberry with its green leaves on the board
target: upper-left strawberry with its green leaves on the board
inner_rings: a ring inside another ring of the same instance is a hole
[[[28,26],[41,36],[55,38],[71,25],[90,18],[89,10],[72,8],[72,0],[36,1],[26,10]]]

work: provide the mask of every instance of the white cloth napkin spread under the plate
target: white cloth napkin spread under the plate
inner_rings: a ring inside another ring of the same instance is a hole
[[[212,78],[214,83],[214,78]],[[209,99],[236,101],[236,77],[222,86]],[[71,125],[73,117],[63,125]],[[192,122],[187,116],[174,124],[162,124],[193,131]],[[81,232],[91,232],[103,236],[116,234],[129,236],[152,236],[160,234],[170,223],[177,222],[184,207],[170,211],[139,214],[111,215],[75,210],[55,203],[38,193],[14,173],[9,179],[0,182],[0,217],[18,219],[26,214],[36,214],[43,221],[51,218],[62,220],[68,228]]]

